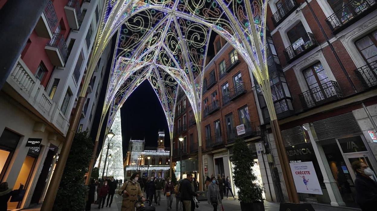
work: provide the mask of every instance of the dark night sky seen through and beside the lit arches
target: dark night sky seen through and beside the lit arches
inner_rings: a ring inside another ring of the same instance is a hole
[[[208,48],[207,57],[213,57],[214,48],[213,41],[215,40],[215,33],[211,34],[210,47]],[[112,39],[112,49],[115,48],[116,38]],[[110,55],[113,55],[113,50]],[[101,112],[103,108],[103,101],[106,94],[107,82],[109,80],[109,73],[111,68],[112,57],[107,63],[106,74],[101,88],[100,97],[96,115],[93,118],[92,131],[90,137],[93,141],[97,135],[97,128],[100,122]],[[158,131],[165,131],[165,146],[170,147],[169,128],[167,125],[166,117],[162,109],[161,103],[155,94],[152,86],[148,81],[144,81],[138,88],[129,96],[121,108],[121,124],[122,124],[122,137],[123,137],[123,156],[127,154],[128,142],[132,139],[144,139],[146,146],[157,146]],[[106,116],[107,119],[107,116]],[[101,129],[100,142],[98,145],[98,153],[102,147],[104,131],[106,124]]]

